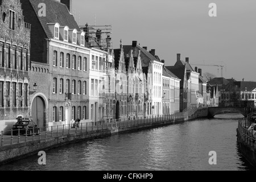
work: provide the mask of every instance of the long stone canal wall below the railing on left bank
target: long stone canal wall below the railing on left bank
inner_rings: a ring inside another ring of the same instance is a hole
[[[189,110],[185,113],[177,113],[175,115],[141,118],[129,121],[124,120],[114,123],[107,123],[106,125],[97,124],[90,128],[86,127],[81,130],[68,129],[67,132],[63,130],[63,133],[60,134],[60,136],[58,134],[58,131],[57,133],[53,133],[53,131],[51,131],[51,137],[49,137],[49,133],[47,134],[46,131],[45,135],[39,134],[39,137],[37,139],[34,139],[33,136],[32,141],[27,141],[28,137],[26,136],[26,141],[20,142],[20,140],[22,139],[20,139],[19,137],[18,142],[16,143],[13,143],[13,141],[11,141],[11,144],[1,144],[2,146],[0,147],[0,165],[9,163],[13,160],[17,160],[20,158],[25,158],[28,155],[37,154],[39,151],[46,151],[51,148],[56,148],[67,143],[109,137],[110,135],[115,135],[119,133],[127,133],[132,131],[172,125],[193,120],[196,118],[207,117],[207,115],[208,109],[201,108]],[[2,142],[4,143],[6,142],[6,140],[2,138]]]

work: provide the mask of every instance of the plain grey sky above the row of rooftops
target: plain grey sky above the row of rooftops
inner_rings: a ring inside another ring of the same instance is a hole
[[[208,14],[210,3],[217,5],[216,17]],[[112,25],[113,48],[120,39],[124,45],[137,40],[166,65],[181,53],[203,73],[220,77],[220,67],[205,64],[224,65],[224,77],[238,81],[256,81],[255,7],[255,0],[73,0],[80,25]]]

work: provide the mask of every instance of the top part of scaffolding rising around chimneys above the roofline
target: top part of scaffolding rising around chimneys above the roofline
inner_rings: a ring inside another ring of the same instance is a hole
[[[104,51],[113,49],[112,26],[111,25],[88,25],[80,26],[80,30],[85,32],[85,41],[89,47],[99,47]]]

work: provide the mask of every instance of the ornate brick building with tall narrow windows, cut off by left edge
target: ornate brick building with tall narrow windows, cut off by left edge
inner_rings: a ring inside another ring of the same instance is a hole
[[[0,130],[10,130],[30,113],[30,24],[19,0],[1,0],[0,7]]]

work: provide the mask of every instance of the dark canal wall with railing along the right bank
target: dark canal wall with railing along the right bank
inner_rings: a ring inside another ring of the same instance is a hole
[[[250,115],[238,121],[237,143],[241,154],[254,167],[256,167],[256,138],[247,129],[250,126]]]

